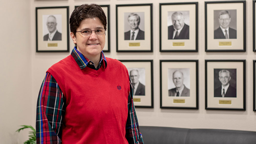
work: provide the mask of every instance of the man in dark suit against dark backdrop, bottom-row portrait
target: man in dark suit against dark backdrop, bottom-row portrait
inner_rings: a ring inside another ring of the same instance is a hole
[[[228,70],[219,71],[219,80],[221,86],[214,90],[214,97],[237,97],[236,88],[229,84],[231,76]]]

